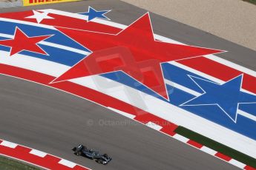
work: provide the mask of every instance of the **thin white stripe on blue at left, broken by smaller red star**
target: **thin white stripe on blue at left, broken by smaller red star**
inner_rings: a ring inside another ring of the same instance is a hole
[[[14,38],[13,35],[8,35],[8,34],[3,34],[3,33],[0,33],[0,37]],[[76,52],[76,53],[79,53],[79,54],[82,54],[82,55],[91,54],[91,52],[87,52],[85,50],[79,50],[79,49],[75,49],[75,48],[72,48],[72,47],[68,47],[68,46],[64,46],[64,45],[60,45],[60,44],[55,44],[55,43],[51,43],[51,42],[47,42],[47,41],[41,41],[38,44],[47,45],[47,46],[59,48],[59,49],[62,49],[62,50],[68,50],[68,51]]]

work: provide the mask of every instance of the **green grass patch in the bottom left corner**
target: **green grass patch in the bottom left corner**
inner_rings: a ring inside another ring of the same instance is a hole
[[[0,156],[0,169],[1,170],[39,170],[35,166],[22,163],[21,161],[13,160],[7,157]]]

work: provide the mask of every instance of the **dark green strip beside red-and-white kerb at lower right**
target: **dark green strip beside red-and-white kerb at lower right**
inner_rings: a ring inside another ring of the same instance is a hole
[[[229,157],[232,157],[234,160],[238,160],[241,163],[245,163],[248,166],[252,166],[256,168],[256,159],[253,157],[249,157],[246,154],[243,154],[241,152],[237,152],[236,150],[225,146],[221,143],[217,143],[214,140],[211,140],[208,137],[205,137],[203,135],[200,135],[196,132],[193,132],[189,129],[186,129],[183,126],[178,126],[175,131],[177,134],[182,135],[183,137],[187,137],[188,139],[194,140],[197,143],[202,144],[203,146],[207,146],[210,149],[214,149],[217,152],[220,152],[222,154],[226,154]]]

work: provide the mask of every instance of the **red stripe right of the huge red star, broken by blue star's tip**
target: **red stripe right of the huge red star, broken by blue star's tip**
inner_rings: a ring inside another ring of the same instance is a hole
[[[198,57],[190,58],[183,61],[177,61],[180,64],[183,64],[187,67],[197,69],[200,72],[204,72],[207,75],[211,75],[214,78],[218,78],[222,81],[229,81],[232,78],[237,77],[237,75],[242,74],[243,72],[238,71],[237,69],[228,67],[224,64],[220,64],[216,61],[212,61],[209,58]],[[250,92],[256,93],[256,78],[252,75],[244,73],[243,76],[243,89],[246,89]]]

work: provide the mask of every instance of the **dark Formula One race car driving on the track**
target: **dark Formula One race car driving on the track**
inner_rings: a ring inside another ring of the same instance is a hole
[[[77,156],[88,157],[91,160],[95,160],[97,163],[102,163],[103,165],[107,165],[112,160],[111,157],[108,157],[108,154],[99,154],[99,152],[93,151],[93,149],[87,149],[83,145],[74,147],[72,151]]]

